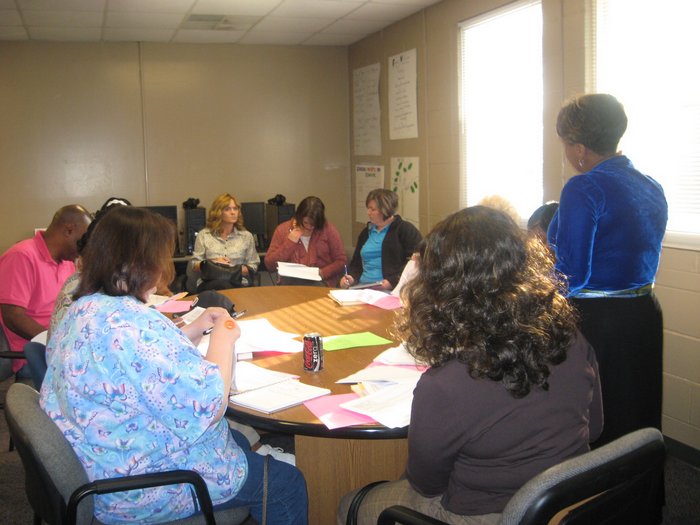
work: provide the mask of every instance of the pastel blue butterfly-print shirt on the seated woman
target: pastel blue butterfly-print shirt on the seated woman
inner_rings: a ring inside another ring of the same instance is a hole
[[[167,318],[133,297],[74,302],[47,349],[41,406],[90,480],[172,469],[198,472],[213,503],[233,498],[247,463],[224,418],[218,367]],[[191,488],[171,485],[97,496],[105,523],[191,515]]]

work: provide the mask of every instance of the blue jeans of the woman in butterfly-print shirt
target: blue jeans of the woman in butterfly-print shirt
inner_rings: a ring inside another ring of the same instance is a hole
[[[262,522],[263,463],[265,456],[250,450],[250,443],[239,431],[231,435],[248,460],[248,477],[236,497],[214,509],[249,507],[258,523]],[[306,480],[301,471],[270,458],[267,470],[267,525],[305,525],[308,521]]]

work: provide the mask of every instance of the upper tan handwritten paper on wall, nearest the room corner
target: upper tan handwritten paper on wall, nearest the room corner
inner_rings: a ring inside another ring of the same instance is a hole
[[[381,155],[379,64],[353,70],[352,108],[355,155]]]

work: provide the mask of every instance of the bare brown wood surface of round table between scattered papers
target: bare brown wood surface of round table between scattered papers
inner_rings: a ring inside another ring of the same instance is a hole
[[[329,288],[315,286],[263,286],[236,288],[220,293],[233,301],[236,311],[246,310],[244,319],[266,318],[275,328],[285,332],[318,332],[321,336],[373,332],[393,340],[389,330],[395,311],[370,305],[340,306],[328,296]],[[255,358],[259,366],[299,375],[302,383],[331,390],[332,394],[348,394],[350,385],[336,384],[369,365],[374,357],[396,343],[348,348],[325,352],[324,368],[320,372],[307,372],[302,353],[280,354]],[[243,423],[263,430],[288,432],[309,436],[395,439],[406,437],[408,429],[390,429],[383,425],[358,425],[329,430],[304,405],[264,414],[255,410],[229,404],[229,413]]]

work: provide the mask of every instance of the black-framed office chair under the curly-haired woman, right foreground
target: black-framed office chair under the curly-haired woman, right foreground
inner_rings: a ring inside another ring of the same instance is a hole
[[[632,432],[532,478],[508,502],[499,525],[546,524],[561,511],[560,525],[655,525],[665,455],[661,432]],[[446,525],[400,505],[377,520],[396,523]]]

